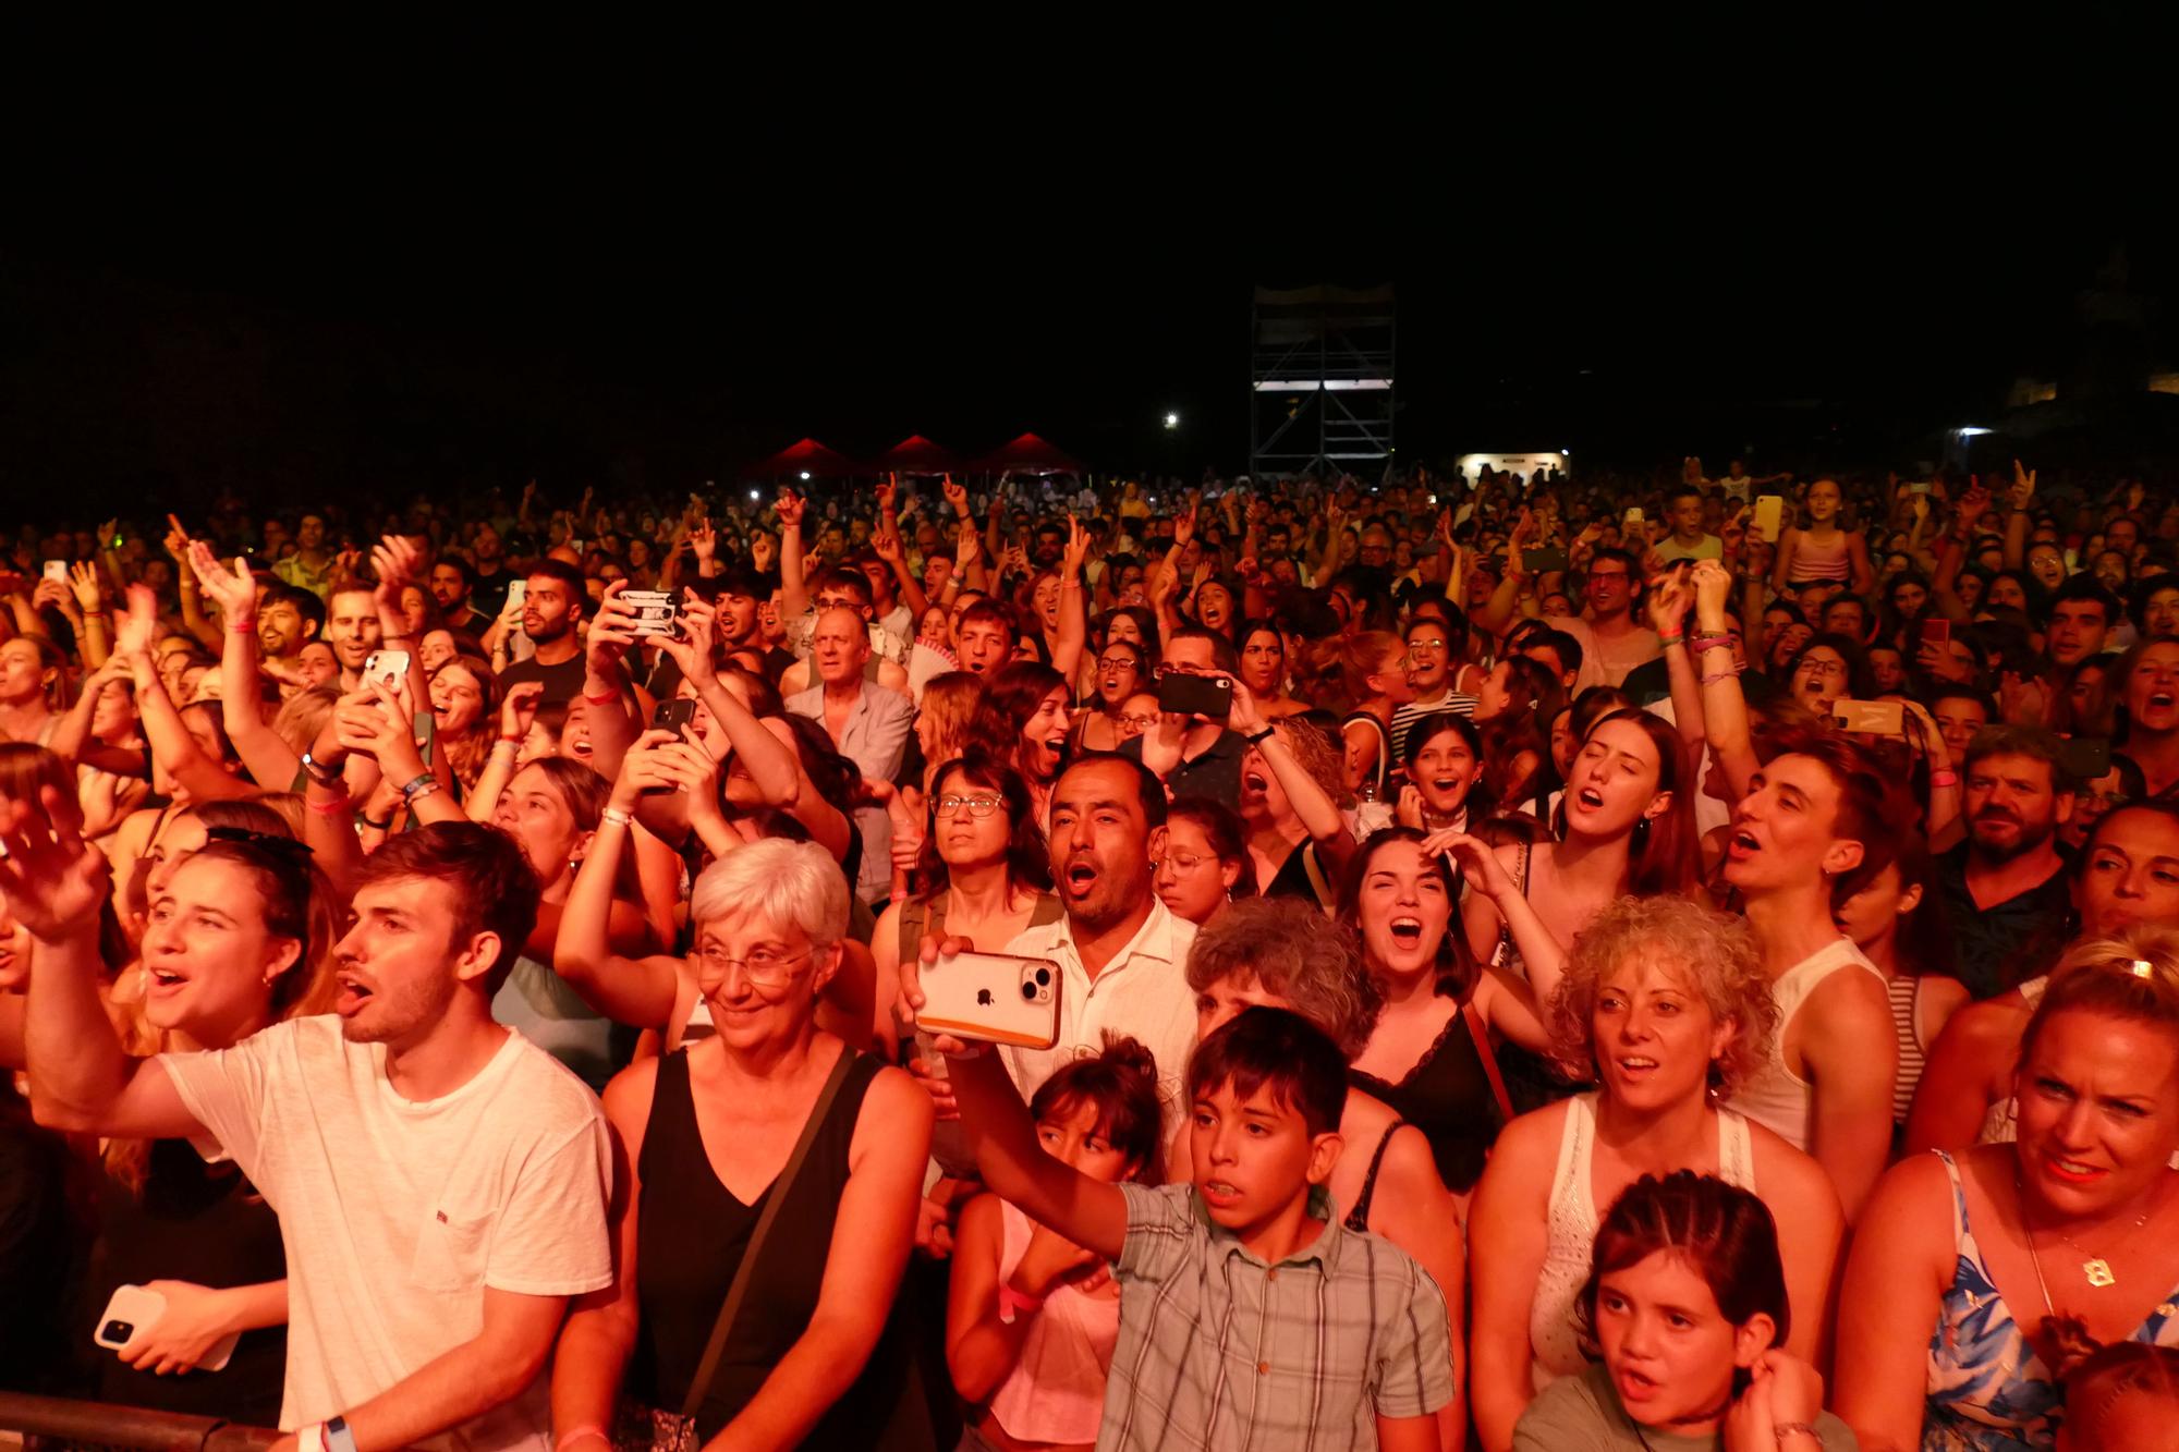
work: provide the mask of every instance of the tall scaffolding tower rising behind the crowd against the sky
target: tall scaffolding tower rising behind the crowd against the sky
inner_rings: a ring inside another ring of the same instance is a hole
[[[1362,471],[1392,456],[1392,288],[1257,288],[1249,473]]]

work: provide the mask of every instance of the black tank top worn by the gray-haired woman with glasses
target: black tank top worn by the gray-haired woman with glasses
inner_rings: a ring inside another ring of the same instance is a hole
[[[878,1068],[878,1060],[856,1055],[789,1188],[791,1199],[771,1225],[765,1260],[750,1280],[710,1393],[697,1408],[697,1435],[704,1439],[717,1437],[750,1404],[808,1330],[824,1262],[832,1254],[832,1221],[848,1186],[848,1147]],[[636,1206],[641,1319],[628,1391],[652,1406],[680,1411],[756,1219],[780,1186],[767,1186],[754,1206],[745,1206],[719,1184],[697,1132],[686,1049],[658,1062],[636,1173],[643,1177],[643,1201]],[[935,1445],[922,1387],[911,1374],[898,1297],[863,1374],[811,1428],[804,1445],[902,1452]]]

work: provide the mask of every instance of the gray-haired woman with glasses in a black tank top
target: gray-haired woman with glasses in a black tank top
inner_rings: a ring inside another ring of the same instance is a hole
[[[893,1295],[930,1097],[817,1027],[839,861],[752,842],[704,870],[689,916],[715,1031],[606,1088],[619,1278],[560,1334],[556,1445],[935,1448]]]

